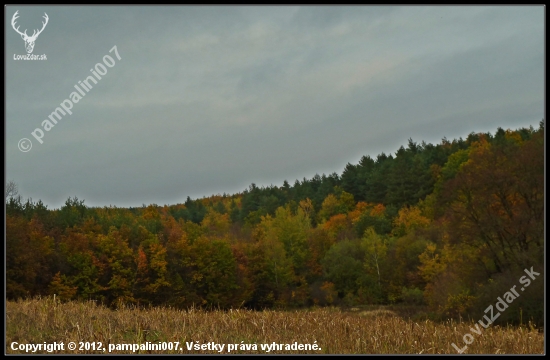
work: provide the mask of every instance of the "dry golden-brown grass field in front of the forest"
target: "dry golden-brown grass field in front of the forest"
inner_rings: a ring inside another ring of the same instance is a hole
[[[479,326],[480,334],[476,334],[470,330],[478,331],[471,322],[415,322],[385,309],[352,310],[356,311],[337,308],[294,312],[182,311],[170,308],[110,310],[94,302],[59,303],[52,298],[8,301],[6,353],[25,353],[24,350],[13,350],[12,346],[24,348],[24,344],[63,342],[64,350],[54,353],[128,354],[133,351],[122,350],[120,344],[137,344],[138,348],[140,345],[145,347],[135,351],[140,354],[457,354],[451,344],[463,348],[465,334],[472,336],[467,338],[470,345],[464,350],[468,354],[544,352],[544,336],[534,328],[489,326],[484,329]],[[68,350],[69,342],[74,342],[77,349]],[[163,342],[170,342],[165,343],[165,347],[177,346],[178,350],[151,350],[154,349],[152,344],[162,347]],[[99,343],[101,349],[98,350]],[[205,350],[188,350],[191,343],[204,345]],[[212,349],[212,343],[224,345],[223,350]],[[276,349],[273,343],[283,345]],[[285,344],[294,344],[296,348],[296,343],[310,347],[315,344],[320,349],[292,350],[291,347],[285,350]],[[120,350],[117,350],[117,344]],[[231,351],[228,349],[230,344]],[[262,349],[262,344],[268,344],[270,349],[265,345]],[[209,346],[211,350],[208,350]],[[41,349],[36,353],[47,351]]]

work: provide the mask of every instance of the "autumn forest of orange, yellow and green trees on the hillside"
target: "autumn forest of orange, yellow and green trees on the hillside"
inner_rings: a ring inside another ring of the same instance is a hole
[[[191,174],[192,175],[192,174]],[[342,174],[171,206],[60,209],[6,195],[8,299],[185,308],[421,305],[543,321],[544,121],[437,145],[409,140]]]

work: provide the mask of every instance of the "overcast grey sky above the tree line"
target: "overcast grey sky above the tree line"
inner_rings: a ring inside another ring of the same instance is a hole
[[[47,15],[32,51],[45,59],[24,60],[16,11],[28,36]],[[544,15],[543,6],[6,6],[5,180],[50,209],[69,197],[171,205],[341,174],[409,138],[536,128]]]

